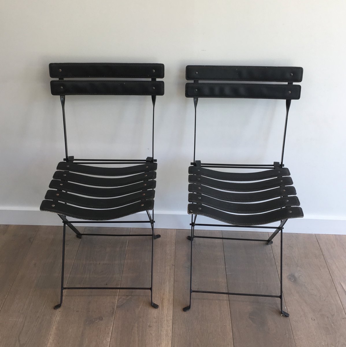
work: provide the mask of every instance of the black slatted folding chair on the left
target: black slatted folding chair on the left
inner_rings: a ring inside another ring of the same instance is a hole
[[[154,109],[156,95],[164,94],[164,82],[156,78],[164,77],[163,64],[106,64],[106,63],[63,63],[49,65],[51,93],[60,95],[65,139],[65,158],[57,166],[40,210],[55,212],[62,219],[62,268],[60,303],[64,289],[147,289],[153,307],[153,260],[154,239],[154,196],[157,163],[154,159]],[[95,78],[64,80],[64,78]],[[135,78],[120,81],[104,78]],[[150,80],[143,80],[143,79]],[[102,79],[102,80],[101,80]],[[146,159],[75,159],[68,155],[65,122],[66,95],[150,95],[153,102],[152,157]],[[113,167],[90,166],[90,164],[114,164]],[[126,165],[118,167],[118,165]],[[131,166],[128,166],[131,165]],[[119,177],[121,176],[121,177]],[[149,211],[152,210],[152,215]],[[148,220],[114,221],[127,215],[146,211]],[[79,220],[68,220],[67,217]],[[81,234],[75,223],[150,223],[150,234]],[[64,255],[66,226],[84,236],[151,236],[152,264],[150,287],[64,287]]]

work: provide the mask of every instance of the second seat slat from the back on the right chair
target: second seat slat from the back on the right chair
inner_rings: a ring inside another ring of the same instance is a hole
[[[262,191],[264,189],[275,188],[279,186],[289,186],[293,184],[291,177],[279,177],[272,178],[265,181],[251,182],[251,183],[233,183],[225,181],[217,181],[215,179],[198,176],[198,175],[189,175],[190,183],[202,184],[205,186],[223,189],[225,191],[233,192],[253,192],[253,191]]]

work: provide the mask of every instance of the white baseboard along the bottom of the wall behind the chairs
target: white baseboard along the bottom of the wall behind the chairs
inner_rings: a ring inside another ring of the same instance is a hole
[[[127,216],[122,220],[147,220],[146,213]],[[160,229],[189,229],[191,216],[182,212],[155,211],[155,228]],[[197,223],[218,224],[218,221],[199,216]],[[61,225],[60,218],[55,213],[42,212],[38,209],[1,209],[0,224],[16,225]],[[78,224],[80,226],[100,226],[100,227],[137,227],[149,228],[149,223],[95,223]],[[277,225],[277,223],[275,223]],[[234,230],[230,227],[196,227],[204,230]],[[236,228],[236,230],[264,231],[265,229],[246,229]],[[268,230],[268,229],[267,229]],[[340,219],[316,219],[316,218],[297,218],[289,220],[284,228],[285,232],[299,232],[304,234],[338,234],[346,235],[346,220]]]

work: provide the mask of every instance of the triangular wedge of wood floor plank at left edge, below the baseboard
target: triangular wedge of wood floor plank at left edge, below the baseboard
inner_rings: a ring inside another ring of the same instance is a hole
[[[28,252],[38,226],[0,226],[0,310]]]

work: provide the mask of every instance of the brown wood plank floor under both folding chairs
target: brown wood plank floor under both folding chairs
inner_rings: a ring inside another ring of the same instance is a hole
[[[100,289],[65,290],[62,307],[53,310],[59,302],[62,227],[0,226],[0,346],[346,346],[346,236],[284,234],[286,318],[277,298],[198,293],[192,294],[191,310],[183,312],[189,299],[189,231],[157,232],[162,235],[155,240],[157,310],[149,291]],[[271,246],[220,239],[195,239],[193,246],[193,289],[279,294],[279,236]],[[150,250],[150,237],[78,239],[68,229],[65,282],[150,287]]]

